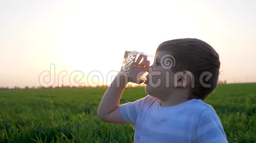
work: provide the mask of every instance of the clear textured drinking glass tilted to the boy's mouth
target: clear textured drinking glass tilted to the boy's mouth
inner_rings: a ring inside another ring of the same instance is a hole
[[[122,67],[121,67],[121,72],[124,72],[125,74],[129,75],[131,64],[134,61],[137,61],[139,55],[142,55],[142,57],[143,57],[139,61],[139,63],[142,62],[143,60],[149,61],[150,62],[149,66],[151,66],[154,63],[155,56],[144,54],[143,52],[125,51],[124,59],[123,59],[123,64],[122,64]],[[147,74],[148,74],[148,72],[145,72],[143,75],[140,76],[140,79],[142,79],[143,81],[146,81],[147,80],[147,78],[146,78]]]

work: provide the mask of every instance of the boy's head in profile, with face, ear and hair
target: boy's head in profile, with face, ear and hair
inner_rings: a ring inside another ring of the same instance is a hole
[[[188,94],[204,100],[217,86],[218,53],[200,39],[173,39],[161,43],[149,68],[146,92],[165,100],[167,95]]]

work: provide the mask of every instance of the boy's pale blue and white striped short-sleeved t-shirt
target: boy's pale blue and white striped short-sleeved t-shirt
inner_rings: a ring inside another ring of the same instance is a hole
[[[120,114],[135,129],[135,143],[227,143],[215,110],[199,99],[162,107],[147,95],[120,105]]]

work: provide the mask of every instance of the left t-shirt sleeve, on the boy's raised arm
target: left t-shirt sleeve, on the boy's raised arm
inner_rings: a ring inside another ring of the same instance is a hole
[[[133,129],[135,129],[137,116],[138,116],[140,107],[143,104],[143,100],[145,98],[146,97],[136,100],[134,102],[128,102],[126,104],[122,104],[119,106],[121,117],[124,119],[124,121],[130,124]]]

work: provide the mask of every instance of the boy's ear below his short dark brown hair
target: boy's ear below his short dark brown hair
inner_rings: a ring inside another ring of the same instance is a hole
[[[189,71],[183,71],[177,78],[177,87],[187,87],[191,85],[192,74]]]

